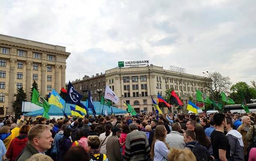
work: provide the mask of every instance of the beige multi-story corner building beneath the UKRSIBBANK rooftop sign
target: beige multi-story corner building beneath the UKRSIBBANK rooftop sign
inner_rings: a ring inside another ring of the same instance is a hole
[[[154,111],[152,98],[157,102],[157,94],[165,95],[167,89],[175,93],[187,104],[189,97],[196,100],[196,90],[204,89],[205,77],[172,72],[159,66],[113,68],[105,73],[106,84],[119,97],[118,107],[125,110],[123,102],[129,103],[137,112]],[[182,109],[182,111],[185,110]]]

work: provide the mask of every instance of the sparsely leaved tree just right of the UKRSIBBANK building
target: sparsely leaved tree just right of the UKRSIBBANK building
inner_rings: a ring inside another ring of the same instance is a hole
[[[232,83],[230,82],[229,77],[222,76],[219,72],[209,73],[207,72],[209,78],[205,77],[204,87],[207,88],[212,95],[214,101],[221,100],[221,92],[229,93]],[[210,97],[212,98],[212,97]]]

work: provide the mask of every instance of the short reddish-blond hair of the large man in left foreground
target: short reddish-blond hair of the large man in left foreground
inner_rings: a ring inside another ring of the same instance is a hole
[[[49,125],[34,125],[28,132],[28,143],[32,144],[34,138],[41,138],[42,133],[44,133],[45,130],[51,130],[52,127]]]

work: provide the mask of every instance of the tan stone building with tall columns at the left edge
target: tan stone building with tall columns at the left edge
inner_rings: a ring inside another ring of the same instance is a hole
[[[13,95],[23,87],[29,101],[34,80],[42,96],[65,87],[70,54],[63,46],[0,34],[0,107],[9,107],[7,114],[13,114]]]

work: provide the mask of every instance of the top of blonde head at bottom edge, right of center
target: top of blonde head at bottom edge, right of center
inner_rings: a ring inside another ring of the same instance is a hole
[[[168,161],[196,161],[196,157],[188,148],[176,149],[171,148],[168,153]]]

